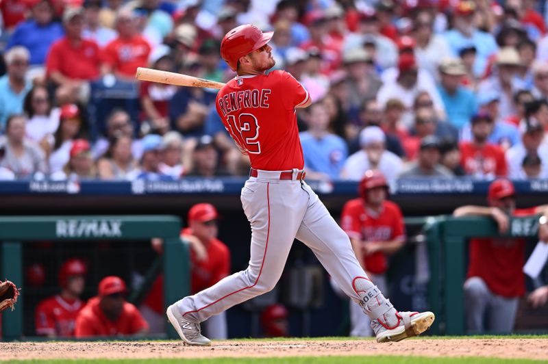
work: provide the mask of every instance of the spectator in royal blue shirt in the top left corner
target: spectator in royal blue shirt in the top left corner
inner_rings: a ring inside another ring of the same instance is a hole
[[[63,35],[63,27],[53,21],[51,4],[42,0],[32,7],[31,19],[17,25],[6,49],[18,45],[27,48],[30,52],[29,63],[38,66],[45,63],[51,44]]]

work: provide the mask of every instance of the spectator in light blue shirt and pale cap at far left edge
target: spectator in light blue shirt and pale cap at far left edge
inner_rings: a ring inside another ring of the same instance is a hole
[[[32,88],[32,83],[25,80],[29,57],[29,51],[23,47],[14,47],[5,53],[8,73],[0,77],[0,133],[5,129],[8,116],[23,112],[23,101]]]

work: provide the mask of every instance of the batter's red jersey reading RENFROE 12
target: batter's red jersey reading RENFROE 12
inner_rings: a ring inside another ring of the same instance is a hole
[[[216,97],[225,128],[258,170],[291,170],[304,166],[295,107],[308,92],[292,75],[275,70],[268,75],[238,76]]]

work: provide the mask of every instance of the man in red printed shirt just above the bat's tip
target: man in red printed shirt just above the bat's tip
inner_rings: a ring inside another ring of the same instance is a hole
[[[136,16],[131,10],[119,11],[116,29],[119,37],[105,47],[101,73],[114,73],[116,77],[133,81],[137,68],[147,66],[151,46],[138,34]]]

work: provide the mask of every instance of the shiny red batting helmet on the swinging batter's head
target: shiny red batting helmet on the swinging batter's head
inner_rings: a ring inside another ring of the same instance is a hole
[[[255,25],[244,24],[229,31],[221,41],[221,57],[236,70],[240,57],[256,51],[268,43],[273,31],[264,33]]]

